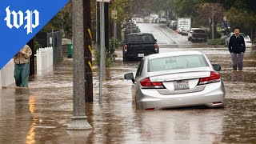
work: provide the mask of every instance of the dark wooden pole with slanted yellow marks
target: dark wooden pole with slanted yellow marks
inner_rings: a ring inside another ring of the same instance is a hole
[[[90,0],[83,0],[84,54],[86,102],[93,102],[93,67],[92,67],[92,34],[90,17]]]

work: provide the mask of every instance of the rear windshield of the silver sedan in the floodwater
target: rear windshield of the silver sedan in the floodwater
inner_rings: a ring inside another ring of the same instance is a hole
[[[208,66],[202,55],[181,55],[165,58],[155,58],[149,61],[149,72],[162,70],[178,70]]]

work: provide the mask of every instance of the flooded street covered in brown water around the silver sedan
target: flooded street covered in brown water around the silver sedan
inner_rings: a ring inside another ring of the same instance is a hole
[[[86,103],[93,130],[66,131],[72,117],[72,62],[38,75],[29,89],[0,90],[0,143],[255,143],[256,50],[246,50],[243,71],[234,72],[223,46],[192,44],[162,24],[139,24],[158,39],[160,53],[202,50],[222,66],[224,109],[136,110],[131,84],[123,75],[138,62],[122,62],[106,70],[102,106],[98,105],[98,66],[94,66],[94,102]],[[120,53],[120,51],[117,51]],[[122,55],[122,54],[118,54]],[[42,119],[42,121],[39,121]]]

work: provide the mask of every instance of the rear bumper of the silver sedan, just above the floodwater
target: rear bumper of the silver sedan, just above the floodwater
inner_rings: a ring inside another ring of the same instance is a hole
[[[166,109],[185,106],[207,106],[210,108],[225,105],[225,90],[222,82],[208,84],[199,92],[186,94],[159,94],[155,89],[140,89],[137,106],[139,109]]]

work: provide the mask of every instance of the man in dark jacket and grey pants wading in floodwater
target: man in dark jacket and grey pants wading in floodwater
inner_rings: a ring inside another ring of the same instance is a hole
[[[240,30],[238,26],[236,26],[234,29],[234,35],[230,37],[229,42],[229,50],[233,62],[233,70],[242,70],[243,54],[246,51],[245,40],[239,33]]]

